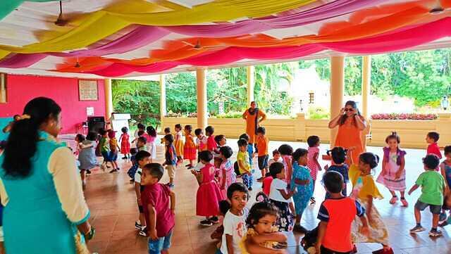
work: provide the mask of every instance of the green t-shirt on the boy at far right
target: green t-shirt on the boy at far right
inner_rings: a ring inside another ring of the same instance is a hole
[[[429,205],[443,205],[445,179],[439,172],[427,170],[420,174],[415,184],[421,186],[419,201]]]

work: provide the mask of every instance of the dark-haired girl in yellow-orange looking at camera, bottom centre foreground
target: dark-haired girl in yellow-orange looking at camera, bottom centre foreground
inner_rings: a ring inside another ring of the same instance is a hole
[[[241,253],[283,254],[285,250],[274,248],[278,243],[287,241],[285,234],[278,232],[273,224],[277,220],[278,209],[269,202],[252,205],[247,217],[247,233],[240,243]]]

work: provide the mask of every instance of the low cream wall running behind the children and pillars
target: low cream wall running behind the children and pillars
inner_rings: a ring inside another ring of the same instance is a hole
[[[439,114],[438,120],[370,120],[372,138],[367,141],[369,146],[385,146],[385,137],[396,131],[401,136],[404,148],[426,148],[424,140],[428,132],[440,133],[440,146],[451,144],[451,113]],[[162,127],[175,124],[197,126],[197,118],[162,118]],[[224,134],[237,138],[245,132],[245,121],[236,118],[210,118],[216,134]],[[295,119],[267,119],[262,123],[270,140],[306,141],[308,136],[320,136],[321,142],[330,142],[328,120],[305,119],[300,113]]]

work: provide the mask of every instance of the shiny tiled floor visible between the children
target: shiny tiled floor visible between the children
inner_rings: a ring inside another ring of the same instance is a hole
[[[236,140],[228,139],[228,143],[234,151],[237,151]],[[303,143],[290,143],[294,148],[306,147]],[[282,142],[271,141],[271,148],[280,146]],[[321,153],[325,153],[327,146],[321,147]],[[158,147],[158,162],[163,157],[163,147]],[[270,150],[272,151],[272,150]],[[381,148],[369,148],[381,155]],[[416,177],[422,172],[421,156],[424,151],[407,149],[407,188],[410,188]],[[120,159],[122,162],[122,160]],[[324,165],[323,162],[321,163]],[[147,239],[137,235],[134,223],[137,220],[137,205],[135,191],[133,185],[130,184],[129,177],[125,173],[130,165],[121,163],[121,173],[109,174],[101,170],[96,170],[94,174],[88,177],[87,189],[85,196],[87,203],[92,212],[90,222],[97,229],[97,235],[89,242],[89,248],[92,252],[99,254],[132,254],[147,253]],[[380,172],[380,167],[376,173]],[[377,175],[377,174],[376,174]],[[256,172],[259,177],[259,172]],[[321,173],[319,174],[321,177]],[[161,180],[167,182],[165,175]],[[254,191],[260,190],[259,183],[255,184]],[[195,215],[195,196],[197,191],[197,182],[185,167],[179,167],[175,177],[175,193],[176,193],[176,212],[175,212],[175,233],[173,236],[172,247],[170,253],[186,253],[186,254],[213,254],[215,253],[216,242],[211,241],[210,234],[215,227],[201,227],[199,220],[201,217]],[[409,228],[414,226],[414,208],[413,204],[421,193],[417,190],[412,196],[407,196],[409,208],[402,208],[399,204],[390,205],[388,199],[390,193],[380,186],[384,196],[381,201],[375,201],[376,208],[383,216],[385,224],[390,232],[390,245],[393,246],[395,253],[400,254],[419,254],[419,253],[451,253],[451,226],[443,230],[443,236],[437,239],[431,239],[428,231],[420,234],[409,234]],[[348,188],[350,189],[350,188]],[[313,228],[318,221],[316,215],[319,209],[319,203],[323,200],[324,191],[321,183],[316,183],[315,191],[316,205],[307,208],[302,218],[302,224],[308,229]],[[251,198],[254,201],[254,198]],[[249,202],[251,205],[251,202]],[[430,212],[423,213],[424,227],[431,227]],[[302,236],[301,236],[302,237]],[[305,253],[299,247],[299,235],[290,234],[288,253]],[[381,248],[378,244],[359,244],[359,253],[371,253],[373,250]]]

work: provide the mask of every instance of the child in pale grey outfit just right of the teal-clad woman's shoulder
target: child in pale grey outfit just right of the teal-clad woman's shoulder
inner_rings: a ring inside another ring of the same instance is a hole
[[[80,161],[80,177],[82,179],[82,187],[86,186],[86,174],[94,167],[97,167],[97,157],[95,153],[97,134],[95,132],[89,132],[86,140],[78,144],[80,153],[78,154],[78,160]]]

